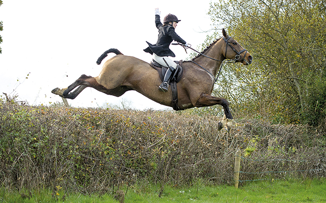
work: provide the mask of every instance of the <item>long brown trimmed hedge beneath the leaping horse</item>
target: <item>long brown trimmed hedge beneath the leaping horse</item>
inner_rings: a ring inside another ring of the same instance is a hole
[[[0,101],[0,180],[11,189],[64,188],[85,194],[144,180],[162,187],[199,179],[232,184],[237,149],[249,152],[241,171],[296,171],[269,178],[325,175],[326,142],[317,129],[238,120],[228,133],[217,130],[218,120],[187,112],[31,107]],[[240,180],[262,176],[243,173]]]

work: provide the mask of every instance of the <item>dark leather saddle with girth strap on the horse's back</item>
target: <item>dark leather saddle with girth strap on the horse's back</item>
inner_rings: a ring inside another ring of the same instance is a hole
[[[181,109],[178,107],[178,90],[177,90],[177,83],[181,80],[183,75],[183,67],[182,67],[182,60],[174,61],[178,64],[177,70],[175,71],[172,79],[170,80],[170,86],[172,90],[172,108],[175,111],[180,111]],[[159,78],[161,82],[164,80],[164,76],[168,71],[168,67],[160,65],[155,60],[150,62],[150,65],[158,72]]]

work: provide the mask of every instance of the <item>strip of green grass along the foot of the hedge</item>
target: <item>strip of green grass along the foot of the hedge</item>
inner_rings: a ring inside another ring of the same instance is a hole
[[[126,189],[124,190],[124,192]],[[1,190],[1,202],[118,202],[112,195],[53,195],[52,192],[6,192]],[[21,195],[23,194],[23,195]],[[326,179],[251,182],[240,186],[166,186],[158,197],[159,185],[130,186],[125,202],[326,202]],[[54,197],[53,197],[54,196]],[[2,199],[4,197],[4,199]],[[63,200],[64,197],[64,200]]]

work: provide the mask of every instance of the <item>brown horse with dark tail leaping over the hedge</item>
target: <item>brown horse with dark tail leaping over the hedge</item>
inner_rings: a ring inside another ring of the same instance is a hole
[[[229,103],[225,98],[211,95],[216,82],[215,76],[223,60],[231,59],[233,62],[249,65],[253,57],[232,37],[229,37],[224,28],[222,33],[223,37],[215,40],[204,51],[198,52],[199,55],[195,58],[183,61],[182,79],[177,83],[178,109],[221,105],[224,109],[224,117],[218,123],[219,130],[226,127],[229,131],[233,121]],[[172,107],[171,88],[169,87],[168,92],[159,91],[161,80],[158,72],[148,62],[123,55],[117,49],[109,49],[99,57],[97,64],[101,63],[107,53],[115,53],[116,56],[103,64],[99,76],[82,75],[67,88],[55,88],[51,92],[63,98],[74,99],[86,87],[117,97],[126,91],[135,90],[161,105]],[[73,89],[75,90],[71,92]]]

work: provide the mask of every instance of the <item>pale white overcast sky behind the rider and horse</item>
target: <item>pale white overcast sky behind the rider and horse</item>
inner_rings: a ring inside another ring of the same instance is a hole
[[[110,48],[124,55],[146,62],[152,56],[145,53],[146,41],[155,44],[154,9],[161,11],[161,21],[171,13],[181,22],[177,34],[198,48],[212,29],[207,15],[211,0],[153,1],[153,0],[4,0],[0,6],[0,95],[3,92],[18,96],[29,105],[49,106],[62,103],[51,90],[65,88],[81,75],[96,77],[111,53],[96,64],[97,58]],[[185,60],[188,54],[180,46],[170,46],[174,60]],[[126,107],[137,110],[169,110],[136,91],[120,97],[86,88],[75,99],[68,99],[72,107]]]

